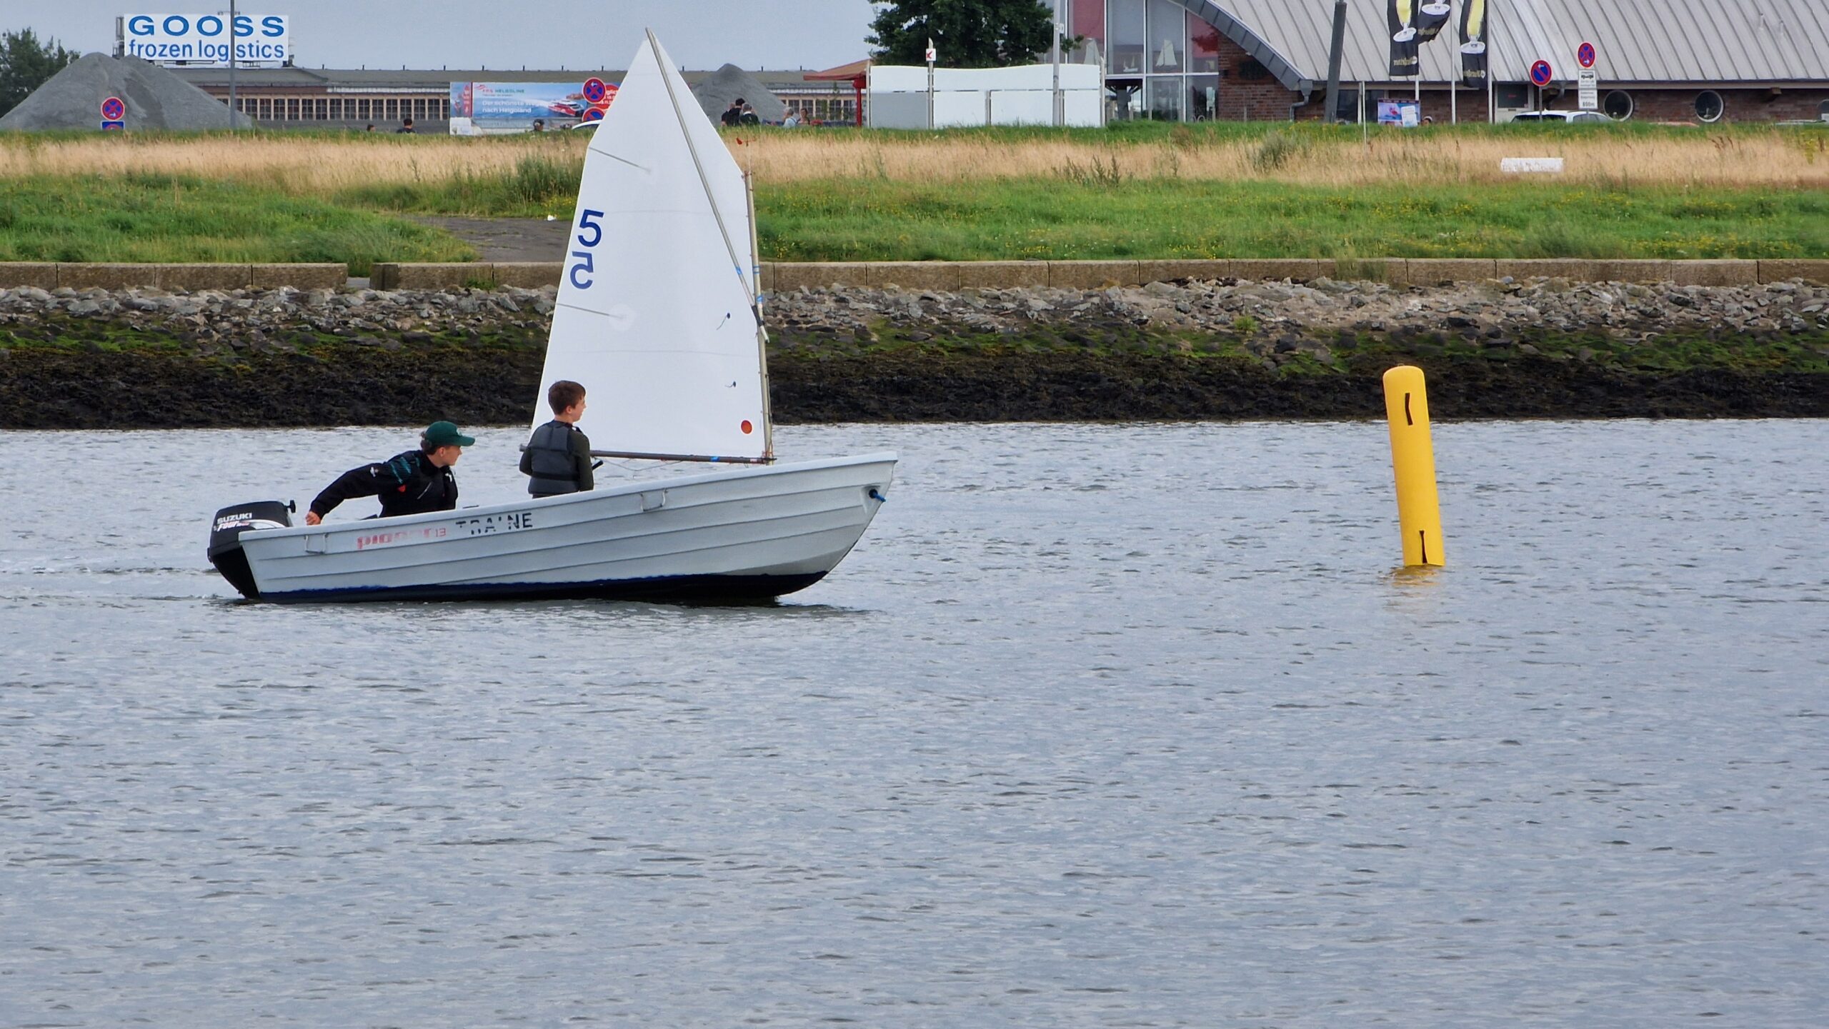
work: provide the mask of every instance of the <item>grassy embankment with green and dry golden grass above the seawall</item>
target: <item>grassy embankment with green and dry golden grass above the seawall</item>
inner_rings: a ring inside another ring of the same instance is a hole
[[[741,137],[741,144],[737,139]],[[765,260],[1829,258],[1829,132],[761,130]],[[466,260],[402,216],[567,217],[585,139],[0,137],[0,260]],[[1505,155],[1569,172],[1502,175]]]

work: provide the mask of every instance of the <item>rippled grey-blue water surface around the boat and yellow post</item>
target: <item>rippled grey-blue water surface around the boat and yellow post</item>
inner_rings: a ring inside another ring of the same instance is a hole
[[[230,599],[410,435],[0,433],[0,1025],[1829,1011],[1825,422],[1438,424],[1423,576],[1381,424],[788,428],[904,461],[779,607]]]

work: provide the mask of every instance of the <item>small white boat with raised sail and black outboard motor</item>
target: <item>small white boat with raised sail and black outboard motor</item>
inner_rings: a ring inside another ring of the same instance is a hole
[[[819,581],[896,455],[774,464],[757,267],[748,179],[649,33],[585,154],[538,397],[582,382],[598,455],[719,470],[316,526],[238,504],[216,512],[210,561],[271,601],[759,599]]]

